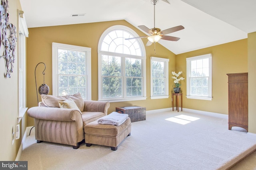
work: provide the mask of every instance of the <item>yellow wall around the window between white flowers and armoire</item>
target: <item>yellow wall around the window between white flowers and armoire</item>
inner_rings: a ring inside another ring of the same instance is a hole
[[[186,81],[182,82],[183,107],[228,114],[227,73],[248,72],[247,39],[177,55],[176,71],[186,77],[186,58],[212,53],[212,101],[187,99]]]

